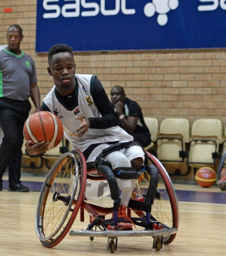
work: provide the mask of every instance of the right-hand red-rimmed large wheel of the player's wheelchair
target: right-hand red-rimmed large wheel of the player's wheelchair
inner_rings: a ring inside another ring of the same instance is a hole
[[[152,205],[152,217],[159,221],[163,228],[178,228],[180,220],[179,205],[177,201],[177,196],[175,195],[175,190],[172,186],[172,182],[163,167],[157,158],[150,155],[147,152],[149,157],[149,162],[154,164],[160,174],[159,184],[156,191],[156,197],[154,204]],[[133,199],[142,198],[145,196],[148,185],[150,182],[150,175],[144,172],[142,179],[138,179],[136,188],[134,190]],[[171,234],[167,237],[164,237],[164,244],[170,244],[176,234]]]

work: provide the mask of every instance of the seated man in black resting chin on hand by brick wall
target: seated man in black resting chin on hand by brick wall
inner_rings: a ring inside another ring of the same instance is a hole
[[[148,146],[152,140],[137,102],[126,98],[122,87],[115,86],[111,90],[111,103],[119,116],[120,127],[142,147]]]

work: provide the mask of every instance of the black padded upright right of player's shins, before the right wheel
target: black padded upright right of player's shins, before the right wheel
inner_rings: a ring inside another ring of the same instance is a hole
[[[150,200],[153,202],[155,199],[156,189],[159,183],[159,170],[153,164],[148,164],[145,169],[150,174],[150,183],[144,200],[144,204],[148,205]]]

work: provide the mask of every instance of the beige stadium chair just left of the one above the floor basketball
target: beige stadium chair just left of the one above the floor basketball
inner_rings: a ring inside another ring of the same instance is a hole
[[[186,118],[166,118],[157,135],[157,156],[163,164],[185,162],[185,143],[190,141],[190,126]]]

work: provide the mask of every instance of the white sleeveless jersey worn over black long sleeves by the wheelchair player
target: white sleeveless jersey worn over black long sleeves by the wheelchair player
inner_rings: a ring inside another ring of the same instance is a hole
[[[92,75],[76,74],[76,90],[78,90],[78,105],[72,108],[67,108],[56,93],[56,86],[46,95],[43,102],[48,107],[49,111],[57,115],[64,127],[64,135],[70,141],[72,148],[84,152],[87,147],[95,143],[108,143],[114,141],[128,142],[132,141],[133,137],[121,129],[119,126],[114,126],[108,129],[88,129],[82,138],[78,137],[78,127],[81,121],[75,119],[75,116],[84,115],[87,118],[101,118],[102,115],[93,102],[90,93],[90,88],[93,86],[94,77]],[[93,89],[91,89],[93,90]],[[106,145],[103,145],[105,148]],[[92,159],[88,162],[95,161],[95,157],[101,153],[103,148],[98,147],[98,152],[92,154]]]

